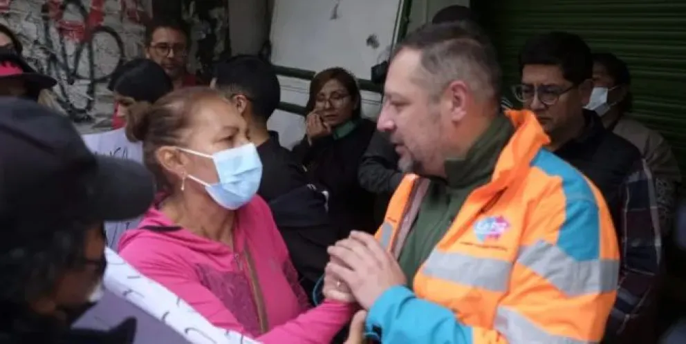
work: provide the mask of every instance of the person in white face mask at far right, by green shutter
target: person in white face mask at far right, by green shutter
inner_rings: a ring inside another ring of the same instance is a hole
[[[600,115],[608,130],[631,142],[640,151],[655,179],[660,229],[672,227],[676,194],[681,184],[679,164],[660,133],[629,118],[631,73],[621,59],[609,52],[593,55],[593,93],[586,108]]]

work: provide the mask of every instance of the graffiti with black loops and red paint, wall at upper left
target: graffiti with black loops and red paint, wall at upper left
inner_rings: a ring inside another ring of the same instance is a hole
[[[0,0],[0,13],[29,63],[57,79],[57,102],[75,122],[111,115],[107,80],[124,59],[142,55],[141,0]]]

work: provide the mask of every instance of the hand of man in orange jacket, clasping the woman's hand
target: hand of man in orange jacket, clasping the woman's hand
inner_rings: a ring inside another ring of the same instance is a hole
[[[407,283],[396,259],[368,233],[353,231],[350,238],[328,247],[328,254],[332,259],[326,275],[346,283],[364,309],[387,289]]]

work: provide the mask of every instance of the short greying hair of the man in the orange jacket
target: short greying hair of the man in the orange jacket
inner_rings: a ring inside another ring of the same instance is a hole
[[[500,99],[502,72],[491,44],[479,26],[470,21],[427,24],[408,35],[401,50],[421,53],[418,82],[425,84],[437,99],[456,80],[472,89],[477,99]]]

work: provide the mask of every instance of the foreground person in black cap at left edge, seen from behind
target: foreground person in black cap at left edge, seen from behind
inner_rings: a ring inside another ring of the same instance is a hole
[[[67,117],[1,97],[0,176],[0,343],[131,343],[134,320],[69,327],[101,292],[103,222],[149,207],[149,171],[94,155]]]

